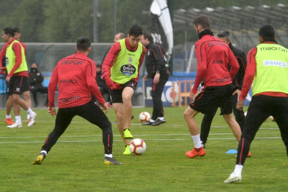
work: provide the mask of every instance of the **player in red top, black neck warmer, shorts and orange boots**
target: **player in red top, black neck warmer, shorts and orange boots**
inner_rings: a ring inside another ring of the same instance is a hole
[[[204,156],[205,150],[201,145],[198,125],[195,116],[207,113],[215,107],[221,107],[221,115],[232,129],[234,136],[240,140],[241,130],[232,115],[232,79],[239,70],[239,64],[229,46],[214,37],[210,30],[210,20],[199,16],[194,20],[194,28],[199,41],[195,43],[197,58],[197,75],[190,92],[192,101],[184,112],[184,118],[194,142],[194,149],[186,153],[187,157]],[[228,71],[228,63],[231,66]],[[204,79],[204,90],[197,95],[198,86]],[[196,97],[196,98],[195,98]]]

